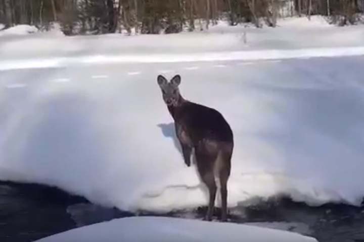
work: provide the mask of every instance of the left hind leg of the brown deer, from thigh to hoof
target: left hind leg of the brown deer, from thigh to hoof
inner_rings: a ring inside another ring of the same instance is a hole
[[[205,220],[211,221],[214,212],[217,190],[213,170],[217,154],[214,152],[209,152],[207,149],[205,149],[205,147],[199,146],[195,148],[195,156],[200,177],[209,191],[209,203]]]

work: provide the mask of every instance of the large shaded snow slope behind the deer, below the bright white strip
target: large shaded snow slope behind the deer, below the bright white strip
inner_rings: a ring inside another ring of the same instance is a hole
[[[362,63],[358,56],[1,72],[0,179],[57,186],[121,210],[206,205],[156,84],[169,70],[168,78],[182,76],[187,99],[217,108],[232,126],[230,207],[281,194],[360,205]]]

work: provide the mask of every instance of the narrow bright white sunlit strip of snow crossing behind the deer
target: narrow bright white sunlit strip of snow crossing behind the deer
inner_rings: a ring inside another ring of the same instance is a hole
[[[364,46],[305,48],[305,49],[264,49],[251,51],[221,51],[186,54],[139,54],[139,55],[84,55],[78,57],[29,58],[0,62],[0,71],[57,68],[71,65],[116,64],[116,63],[176,63],[214,61],[257,61],[261,59],[288,59],[311,57],[334,57],[364,55]]]

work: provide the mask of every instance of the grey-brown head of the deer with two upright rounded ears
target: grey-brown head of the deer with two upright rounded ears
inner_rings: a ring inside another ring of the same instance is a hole
[[[181,96],[179,94],[178,85],[180,84],[181,78],[179,75],[175,75],[170,82],[165,79],[162,75],[157,78],[158,85],[162,91],[163,100],[167,106],[178,105]]]

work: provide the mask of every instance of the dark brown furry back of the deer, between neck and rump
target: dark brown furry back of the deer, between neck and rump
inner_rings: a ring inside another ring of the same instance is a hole
[[[194,143],[202,139],[233,143],[233,132],[228,122],[213,108],[187,101],[175,112],[175,121]]]

